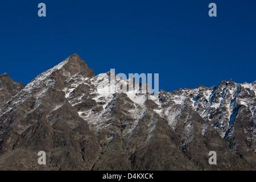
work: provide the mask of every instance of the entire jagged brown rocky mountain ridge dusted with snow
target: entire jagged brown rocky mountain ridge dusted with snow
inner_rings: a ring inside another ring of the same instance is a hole
[[[26,87],[1,75],[0,169],[256,169],[256,82],[154,95],[135,82],[119,92],[131,80],[113,75],[77,54]]]

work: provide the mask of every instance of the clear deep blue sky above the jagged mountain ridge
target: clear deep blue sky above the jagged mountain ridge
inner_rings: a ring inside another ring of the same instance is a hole
[[[47,16],[38,16],[46,3]],[[217,5],[217,17],[208,5]],[[25,85],[73,53],[96,75],[159,73],[159,89],[253,82],[256,1],[7,1],[0,74]]]

